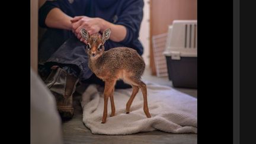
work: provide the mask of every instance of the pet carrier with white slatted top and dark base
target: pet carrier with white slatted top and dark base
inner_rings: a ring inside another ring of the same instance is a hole
[[[174,87],[197,88],[197,20],[174,20],[164,51]]]

